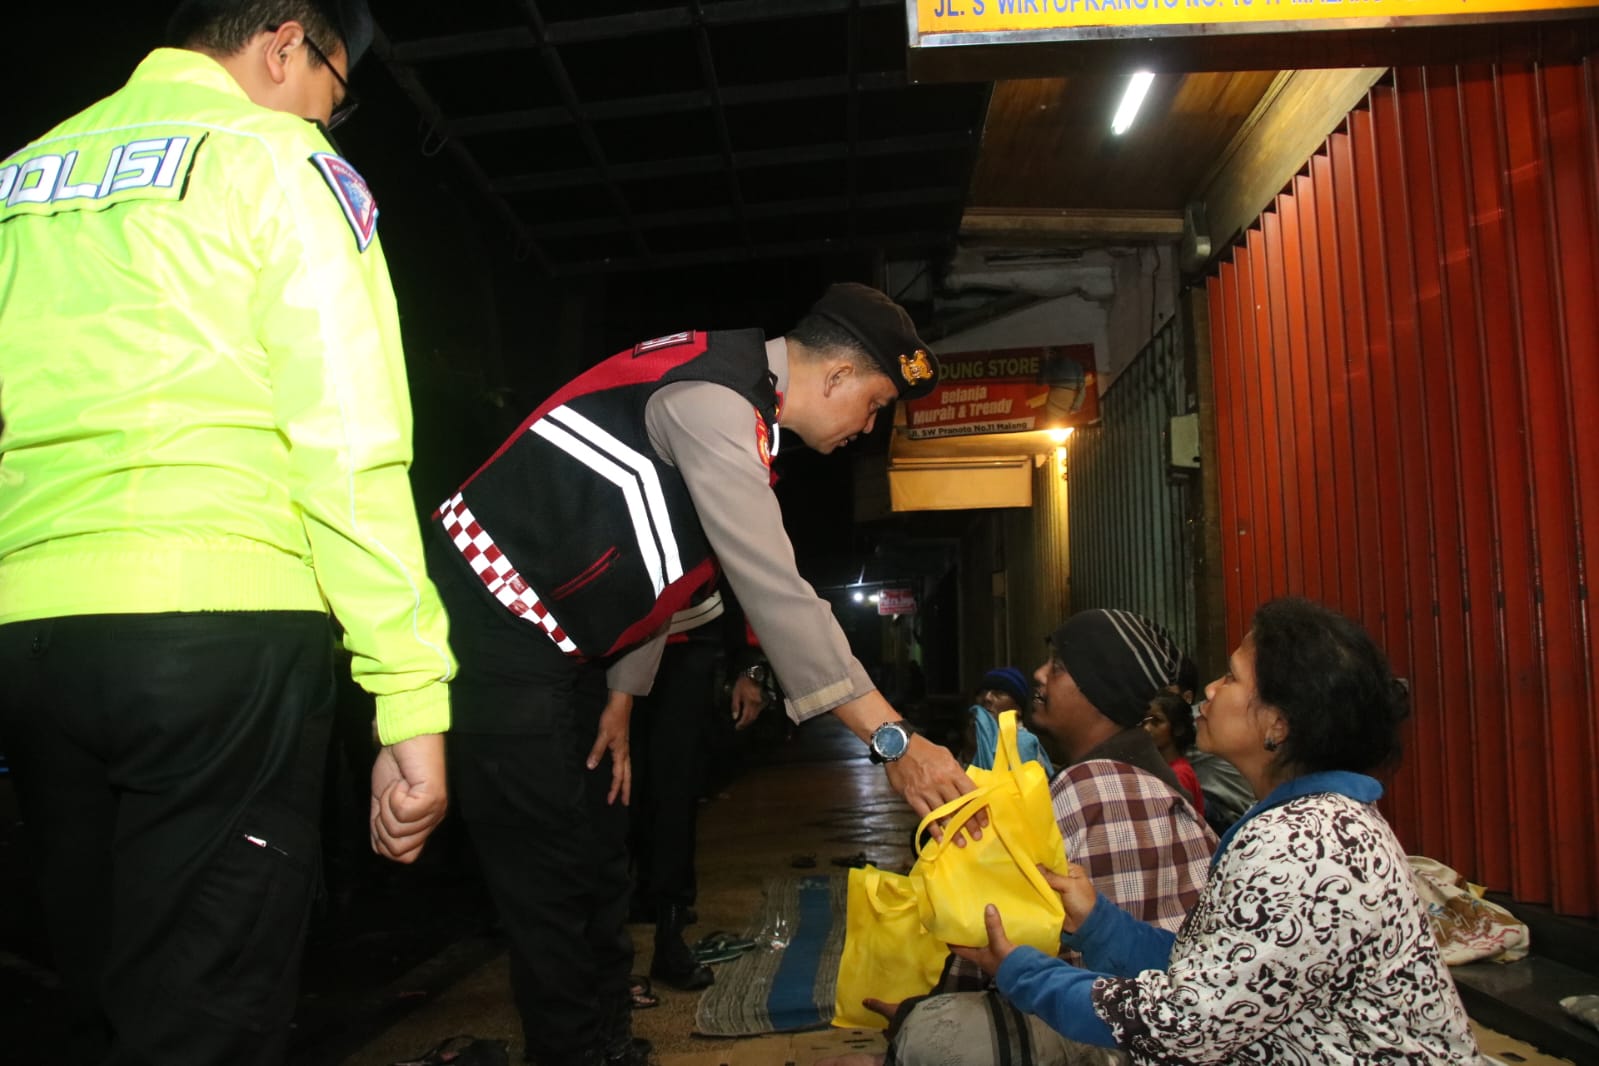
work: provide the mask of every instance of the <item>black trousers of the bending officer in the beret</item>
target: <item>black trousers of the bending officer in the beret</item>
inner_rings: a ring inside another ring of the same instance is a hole
[[[590,770],[603,663],[564,655],[429,542],[449,612],[451,809],[467,825],[510,937],[512,994],[539,1066],[598,1061],[632,1036],[627,807],[606,804],[611,758]]]

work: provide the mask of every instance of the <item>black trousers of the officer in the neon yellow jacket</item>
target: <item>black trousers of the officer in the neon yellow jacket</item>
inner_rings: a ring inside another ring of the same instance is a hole
[[[0,626],[64,1060],[283,1060],[318,884],[333,633],[313,612]]]

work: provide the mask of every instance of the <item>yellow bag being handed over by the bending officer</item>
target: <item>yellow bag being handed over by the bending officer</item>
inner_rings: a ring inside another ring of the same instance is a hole
[[[977,791],[943,804],[921,821],[918,839],[934,821],[948,818],[943,841],[931,837],[911,866],[921,924],[951,945],[988,943],[983,906],[993,903],[1006,933],[1046,954],[1060,951],[1065,908],[1038,865],[1065,876],[1067,845],[1049,802],[1049,777],[1038,762],[1023,762],[1015,742],[1015,711],[999,716],[995,769],[969,769]],[[955,831],[983,807],[988,826],[979,841],[955,845]]]

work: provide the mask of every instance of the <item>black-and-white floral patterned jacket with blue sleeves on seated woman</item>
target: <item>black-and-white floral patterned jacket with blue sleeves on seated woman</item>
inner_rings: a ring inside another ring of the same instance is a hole
[[[1140,1064],[1481,1063],[1380,794],[1289,782],[1223,837],[1175,938],[1102,897],[1067,938],[1099,973],[1017,949],[1001,991]]]

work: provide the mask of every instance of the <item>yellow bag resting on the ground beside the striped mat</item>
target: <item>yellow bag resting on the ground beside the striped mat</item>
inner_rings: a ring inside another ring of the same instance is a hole
[[[886,1029],[887,1018],[862,1007],[862,1000],[897,1004],[926,996],[939,983],[948,953],[923,929],[910,877],[876,866],[851,869],[833,1024]]]

